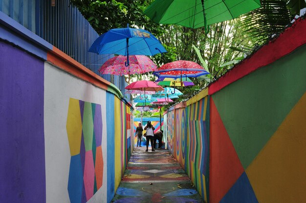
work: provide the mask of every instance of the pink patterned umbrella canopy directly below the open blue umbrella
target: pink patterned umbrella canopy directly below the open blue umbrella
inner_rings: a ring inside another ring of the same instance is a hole
[[[142,74],[151,71],[155,71],[157,66],[151,59],[143,55],[132,55],[129,56],[130,66],[125,66],[127,62],[126,56],[116,56],[106,61],[99,72],[101,74],[112,74],[112,75],[130,75],[130,74]]]

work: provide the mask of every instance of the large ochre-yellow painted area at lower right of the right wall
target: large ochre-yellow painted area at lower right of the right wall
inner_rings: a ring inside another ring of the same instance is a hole
[[[306,201],[306,93],[247,168],[246,174],[258,202]]]

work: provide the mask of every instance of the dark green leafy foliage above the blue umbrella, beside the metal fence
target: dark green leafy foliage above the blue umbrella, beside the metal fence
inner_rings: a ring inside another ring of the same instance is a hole
[[[126,27],[146,28],[153,34],[163,29],[143,14],[151,0],[71,0],[91,26],[103,34],[110,29]]]

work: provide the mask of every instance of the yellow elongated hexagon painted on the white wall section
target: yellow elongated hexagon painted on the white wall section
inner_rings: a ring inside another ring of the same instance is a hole
[[[70,147],[70,155],[80,154],[82,138],[82,119],[80,102],[76,99],[69,99],[66,130]]]

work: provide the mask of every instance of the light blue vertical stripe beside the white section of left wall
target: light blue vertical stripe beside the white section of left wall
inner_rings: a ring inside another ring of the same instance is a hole
[[[107,202],[110,203],[115,195],[115,116],[114,116],[114,95],[106,93],[107,117]]]

